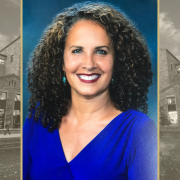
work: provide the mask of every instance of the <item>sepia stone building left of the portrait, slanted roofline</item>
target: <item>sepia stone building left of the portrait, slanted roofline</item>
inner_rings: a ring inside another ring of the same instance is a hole
[[[20,37],[0,50],[0,129],[20,128]]]

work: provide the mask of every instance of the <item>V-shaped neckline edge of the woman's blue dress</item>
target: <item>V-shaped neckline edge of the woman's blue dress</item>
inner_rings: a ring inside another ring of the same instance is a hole
[[[79,151],[79,153],[73,158],[71,159],[69,162],[67,161],[66,159],[66,156],[65,156],[65,153],[64,153],[64,149],[63,149],[63,146],[62,146],[62,142],[61,142],[61,137],[60,137],[60,134],[59,134],[59,129],[55,129],[55,132],[56,132],[56,136],[57,136],[57,139],[58,139],[58,144],[60,146],[60,150],[62,151],[62,154],[63,154],[63,158],[64,160],[66,161],[67,164],[71,164],[72,162],[74,162],[94,141],[96,141],[98,139],[98,137],[100,137],[105,131],[106,129],[108,129],[108,127],[110,125],[112,125],[115,120],[124,115],[124,113],[127,112],[127,111],[124,111],[120,114],[118,114],[116,117],[114,117],[86,146],[84,146],[81,151]]]

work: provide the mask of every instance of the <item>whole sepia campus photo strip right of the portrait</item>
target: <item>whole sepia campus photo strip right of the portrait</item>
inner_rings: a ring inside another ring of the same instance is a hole
[[[160,0],[160,180],[180,179],[180,1]]]

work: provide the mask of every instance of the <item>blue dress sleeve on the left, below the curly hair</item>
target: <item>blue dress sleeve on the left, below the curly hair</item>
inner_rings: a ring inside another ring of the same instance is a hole
[[[32,117],[26,118],[23,126],[23,180],[29,180],[28,172],[31,164],[29,147],[33,137],[34,111]]]

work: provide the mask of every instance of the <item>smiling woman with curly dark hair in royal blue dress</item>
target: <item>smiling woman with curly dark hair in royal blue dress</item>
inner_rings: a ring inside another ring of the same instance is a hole
[[[156,179],[156,127],[144,39],[115,8],[76,4],[57,15],[28,72],[24,179]]]

